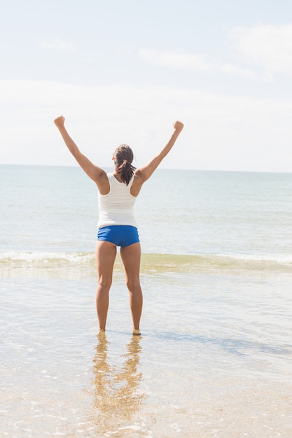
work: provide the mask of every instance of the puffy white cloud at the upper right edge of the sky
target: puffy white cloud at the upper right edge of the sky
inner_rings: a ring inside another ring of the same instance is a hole
[[[270,79],[272,73],[292,75],[292,24],[237,27],[230,37],[239,55],[263,68]]]

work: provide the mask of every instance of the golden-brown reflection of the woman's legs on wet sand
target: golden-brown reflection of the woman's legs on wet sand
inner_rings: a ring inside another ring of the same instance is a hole
[[[109,342],[105,332],[100,332],[97,339],[97,353],[93,359],[94,422],[101,433],[113,425],[121,425],[123,420],[129,421],[139,411],[144,394],[138,393],[142,377],[141,372],[137,372],[141,337],[132,336],[127,353],[122,356],[125,361],[119,368],[108,363]]]

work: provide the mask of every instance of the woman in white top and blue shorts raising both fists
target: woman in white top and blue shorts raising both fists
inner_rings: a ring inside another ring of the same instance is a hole
[[[174,122],[174,132],[165,147],[148,164],[139,169],[132,166],[133,153],[131,148],[127,145],[118,146],[113,155],[113,173],[107,174],[80,152],[64,127],[64,120],[61,115],[55,119],[55,125],[71,154],[74,155],[85,173],[95,181],[99,190],[99,231],[95,251],[98,278],[96,304],[99,329],[101,331],[106,329],[113,264],[116,259],[117,246],[120,246],[120,256],[130,294],[133,334],[140,334],[139,323],[143,304],[139,280],[141,247],[133,213],[134,202],[142,185],[150,178],[174,146],[183,129],[183,124],[179,121]]]

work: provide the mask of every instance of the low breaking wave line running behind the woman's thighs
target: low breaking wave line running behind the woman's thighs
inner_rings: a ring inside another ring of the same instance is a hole
[[[0,253],[0,267],[95,267],[94,253]],[[117,257],[116,267],[121,267]],[[224,270],[281,270],[290,271],[291,255],[249,254],[158,254],[144,253],[141,257],[142,272],[197,272]]]

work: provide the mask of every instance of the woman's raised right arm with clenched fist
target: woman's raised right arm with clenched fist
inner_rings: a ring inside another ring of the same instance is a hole
[[[166,157],[166,155],[169,153],[169,150],[172,149],[172,146],[174,146],[174,143],[176,142],[177,137],[179,134],[181,134],[181,131],[183,129],[183,123],[176,120],[173,124],[174,132],[172,133],[172,136],[170,137],[169,141],[167,141],[166,145],[162,150],[160,150],[160,153],[158,155],[155,155],[152,160],[150,160],[145,166],[140,167],[135,171],[135,174],[139,177],[141,180],[141,183],[144,183],[148,180],[148,178],[151,177],[155,169],[158,168],[159,164],[162,162],[163,158]]]

